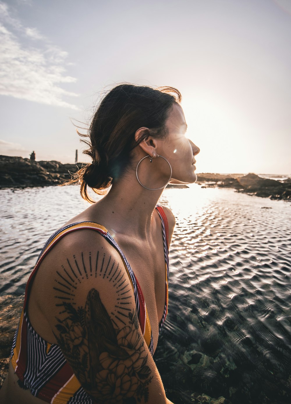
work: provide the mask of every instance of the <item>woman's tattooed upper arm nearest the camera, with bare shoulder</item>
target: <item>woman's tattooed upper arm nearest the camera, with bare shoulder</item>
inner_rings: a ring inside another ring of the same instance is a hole
[[[166,403],[123,261],[92,233],[79,242],[66,236],[50,258],[48,292],[54,297],[44,310],[57,344],[96,403],[121,404],[130,398],[133,403]]]

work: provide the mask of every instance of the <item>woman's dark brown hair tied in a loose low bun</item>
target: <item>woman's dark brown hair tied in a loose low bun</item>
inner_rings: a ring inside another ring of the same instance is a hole
[[[167,135],[166,119],[174,102],[181,103],[181,93],[173,87],[137,86],[120,84],[102,98],[86,135],[82,140],[88,145],[84,151],[92,163],[82,167],[69,183],[79,182],[81,196],[93,202],[87,194],[87,186],[96,194],[106,189],[130,165],[131,151],[147,136],[135,140],[138,128],[149,128],[151,136],[163,139]]]

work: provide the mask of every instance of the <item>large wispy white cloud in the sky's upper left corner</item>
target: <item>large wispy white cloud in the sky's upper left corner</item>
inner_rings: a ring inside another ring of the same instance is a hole
[[[68,53],[50,44],[36,28],[23,27],[3,2],[0,19],[4,20],[0,23],[0,95],[78,110],[64,100],[77,94],[60,86],[76,82],[76,78],[66,75]],[[42,48],[29,45],[31,40],[41,42]]]

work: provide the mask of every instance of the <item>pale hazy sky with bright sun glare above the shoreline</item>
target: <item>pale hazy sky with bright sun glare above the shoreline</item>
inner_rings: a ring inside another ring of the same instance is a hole
[[[0,154],[88,162],[74,124],[130,82],[181,92],[197,173],[290,176],[290,72],[291,0],[0,0]]]

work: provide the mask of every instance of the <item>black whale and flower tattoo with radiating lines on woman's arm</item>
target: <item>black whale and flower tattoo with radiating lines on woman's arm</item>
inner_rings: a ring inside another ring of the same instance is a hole
[[[111,272],[114,265],[112,265]],[[103,266],[104,260],[102,268]],[[108,268],[109,265],[107,265],[106,271]],[[72,267],[71,269],[73,270]],[[68,271],[66,273],[69,274]],[[90,270],[88,273],[90,274]],[[118,271],[116,271],[117,273]],[[58,275],[61,276],[61,274]],[[110,276],[107,278],[110,279]],[[61,277],[62,284],[65,285],[64,280],[69,280],[69,278]],[[73,278],[72,276],[71,279],[74,280]],[[80,277],[78,276],[78,278]],[[70,280],[71,284],[73,284],[72,280]],[[116,281],[118,278],[115,278],[115,284],[118,283]],[[75,284],[77,283],[78,280]],[[119,284],[121,286],[117,287],[117,292],[120,290],[118,296],[122,297],[117,300],[120,300],[119,305],[122,308],[122,304],[128,305],[126,300],[128,300],[130,290],[123,292],[128,288],[124,289],[126,285],[124,285],[122,276]],[[62,291],[68,294],[66,289],[59,286],[55,290],[59,291],[59,299],[62,298]],[[70,295],[73,294],[70,293]],[[123,301],[121,301],[122,299]],[[58,333],[55,333],[55,337],[58,345],[66,353],[68,362],[83,388],[95,398],[97,403],[134,404],[136,400],[140,402],[142,399],[147,402],[149,399],[148,385],[153,376],[151,376],[151,369],[147,366],[148,354],[145,350],[143,336],[139,331],[136,309],[124,308],[125,314],[118,310],[118,316],[115,315],[115,318],[120,320],[121,326],[117,326],[117,322],[113,319],[114,314],[111,313],[112,316],[109,316],[99,292],[95,288],[91,288],[89,291],[85,307],[75,308],[73,300],[73,298],[72,301],[67,299],[57,305],[62,306],[60,314],[66,313],[66,318],[56,317],[55,327]],[[117,307],[119,306],[117,305]],[[126,322],[121,319],[121,316],[127,317]]]

